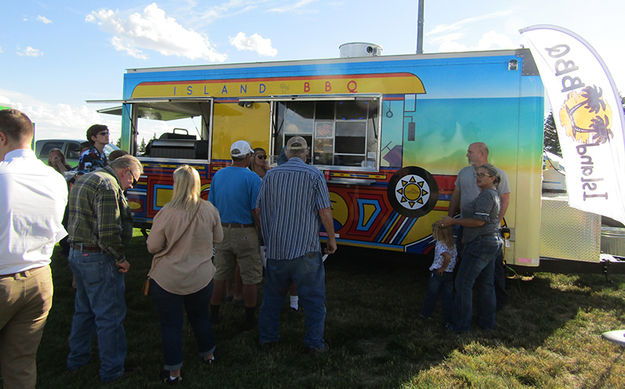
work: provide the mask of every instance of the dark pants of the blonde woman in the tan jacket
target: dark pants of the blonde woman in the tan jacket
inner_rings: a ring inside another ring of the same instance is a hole
[[[182,367],[182,324],[183,309],[193,332],[200,357],[215,351],[215,337],[210,323],[209,305],[213,294],[213,281],[199,291],[187,295],[169,293],[154,280],[150,280],[150,295],[156,304],[161,321],[163,356],[165,370]]]

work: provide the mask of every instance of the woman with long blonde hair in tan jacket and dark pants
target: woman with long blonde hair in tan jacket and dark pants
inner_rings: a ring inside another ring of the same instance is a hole
[[[179,167],[172,199],[154,217],[147,240],[148,251],[154,254],[148,276],[161,321],[165,383],[182,380],[183,309],[200,357],[206,363],[215,360],[209,313],[215,274],[211,256],[213,243],[222,239],[217,208],[200,198],[200,175],[188,165]]]

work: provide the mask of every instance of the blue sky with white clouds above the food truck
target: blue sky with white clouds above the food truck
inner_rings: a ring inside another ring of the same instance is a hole
[[[410,54],[417,8],[417,0],[4,1],[0,106],[25,112],[36,139],[84,139],[102,123],[114,142],[121,119],[97,112],[112,104],[86,101],[121,99],[126,69],[336,58],[346,42]],[[625,94],[623,15],[623,0],[425,0],[423,51],[514,49],[520,28],[554,24],[587,40]]]

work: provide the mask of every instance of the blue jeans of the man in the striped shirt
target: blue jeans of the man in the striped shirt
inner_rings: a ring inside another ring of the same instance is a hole
[[[280,311],[291,281],[297,285],[299,304],[306,314],[304,343],[310,348],[321,348],[325,343],[326,292],[325,269],[319,252],[288,260],[267,259],[263,303],[258,316],[260,343],[280,339]]]

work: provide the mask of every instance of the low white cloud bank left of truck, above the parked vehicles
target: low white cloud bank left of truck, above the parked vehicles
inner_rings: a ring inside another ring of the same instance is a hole
[[[0,89],[0,105],[19,109],[35,123],[35,138],[84,139],[87,128],[95,123],[106,124],[111,130],[111,141],[121,134],[118,116],[99,114],[95,105],[50,104],[35,97]]]

